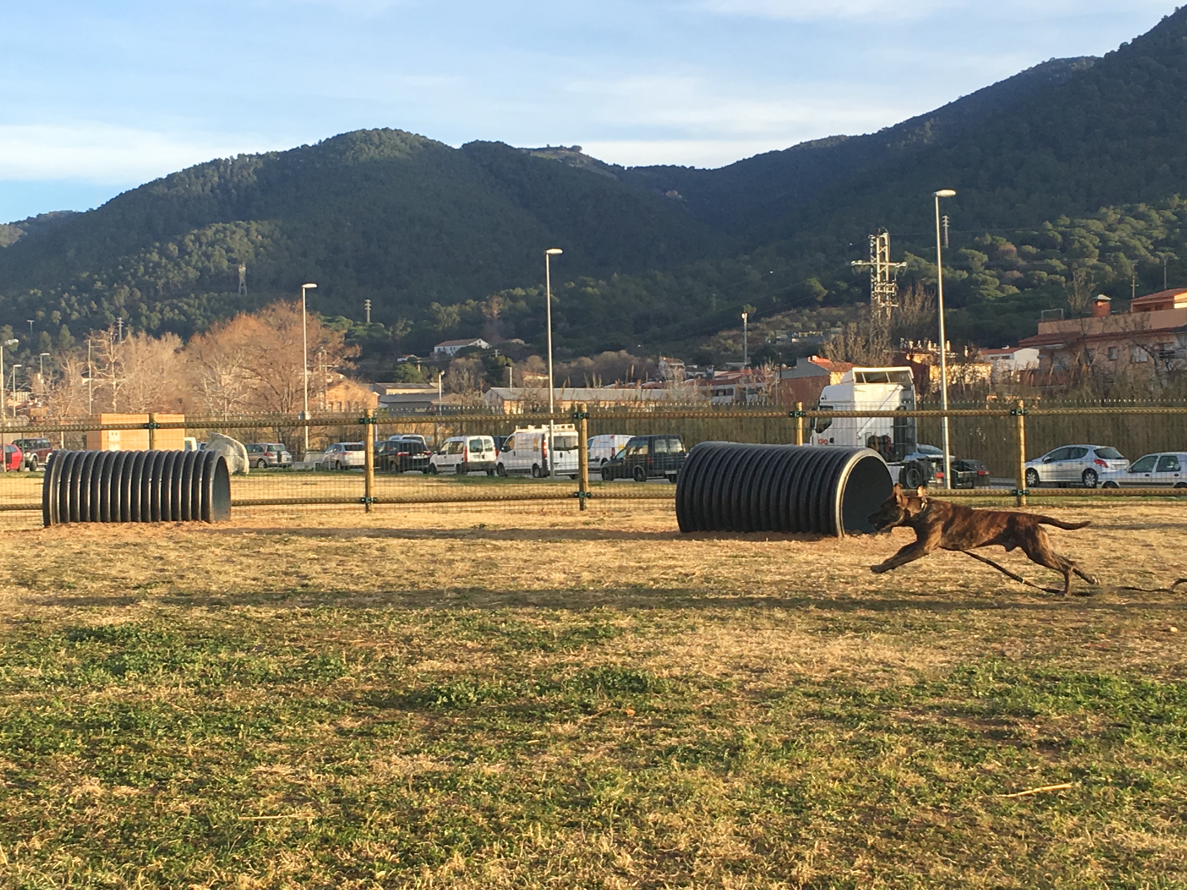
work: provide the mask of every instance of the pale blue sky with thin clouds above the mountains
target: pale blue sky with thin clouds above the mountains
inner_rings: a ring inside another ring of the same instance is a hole
[[[864,133],[1173,0],[0,1],[0,221],[364,127],[722,166]]]

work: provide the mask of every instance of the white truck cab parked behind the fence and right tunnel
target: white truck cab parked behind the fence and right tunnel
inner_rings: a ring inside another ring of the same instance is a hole
[[[914,411],[915,381],[910,368],[853,368],[839,383],[826,386],[820,411]],[[868,447],[882,454],[899,481],[902,459],[915,450],[914,418],[814,418],[805,445]]]

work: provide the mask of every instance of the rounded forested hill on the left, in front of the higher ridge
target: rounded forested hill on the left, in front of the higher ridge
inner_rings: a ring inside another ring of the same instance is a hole
[[[189,335],[243,307],[298,294],[358,318],[415,318],[434,301],[542,278],[544,248],[569,268],[645,272],[730,247],[672,201],[495,142],[451,148],[362,131],[288,152],[190,167],[97,210],[18,223],[0,250],[4,320]],[[40,313],[40,316],[38,316]]]

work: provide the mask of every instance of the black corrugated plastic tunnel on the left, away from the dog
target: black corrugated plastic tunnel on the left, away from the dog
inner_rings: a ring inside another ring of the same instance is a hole
[[[224,522],[230,473],[214,451],[55,451],[42,521]]]

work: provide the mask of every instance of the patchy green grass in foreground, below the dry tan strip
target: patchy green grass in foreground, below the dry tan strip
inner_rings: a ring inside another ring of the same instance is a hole
[[[1173,670],[976,657],[891,675],[743,659],[766,672],[756,681],[691,647],[743,647],[756,615],[154,606],[9,623],[0,876],[1183,885],[1187,684]],[[821,647],[953,630],[920,615],[805,621],[762,625]]]

